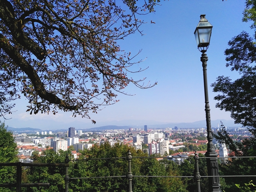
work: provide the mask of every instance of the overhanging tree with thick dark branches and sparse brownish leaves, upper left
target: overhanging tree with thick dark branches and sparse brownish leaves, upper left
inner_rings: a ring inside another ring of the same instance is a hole
[[[63,110],[90,118],[89,111],[117,102],[117,93],[125,93],[129,83],[155,85],[129,76],[144,69],[129,70],[140,61],[122,51],[118,40],[141,33],[144,21],[137,17],[154,12],[156,4],[1,0],[0,116],[11,113],[12,101],[24,95],[30,114]]]

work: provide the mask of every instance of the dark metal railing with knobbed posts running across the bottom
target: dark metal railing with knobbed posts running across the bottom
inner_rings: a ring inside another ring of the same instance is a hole
[[[150,176],[150,175],[132,175],[132,158],[182,158],[189,159],[193,158],[195,160],[195,170],[194,176]],[[133,177],[186,177],[186,178],[194,178],[196,182],[197,191],[201,192],[200,189],[200,179],[202,177],[255,177],[256,175],[219,175],[219,176],[201,176],[199,170],[199,159],[207,159],[211,157],[199,157],[198,153],[194,153],[194,157],[132,157],[130,151],[126,157],[112,157],[112,158],[85,158],[85,159],[74,159],[70,160],[68,155],[66,155],[65,163],[0,163],[0,166],[17,166],[17,182],[9,183],[9,184],[0,184],[0,187],[14,187],[16,186],[16,192],[21,192],[21,187],[49,187],[49,183],[21,183],[21,167],[22,166],[46,166],[46,167],[66,167],[66,173],[64,176],[65,181],[65,192],[68,192],[68,184],[72,180],[76,179],[100,179],[100,178],[115,178],[115,177],[125,177],[128,180],[129,192],[132,192],[132,178]],[[256,158],[256,157],[216,157],[218,159],[224,158]],[[128,172],[127,175],[120,176],[102,176],[102,177],[70,177],[68,174],[69,162],[77,162],[77,161],[91,161],[91,160],[102,160],[102,159],[127,159],[128,161]]]

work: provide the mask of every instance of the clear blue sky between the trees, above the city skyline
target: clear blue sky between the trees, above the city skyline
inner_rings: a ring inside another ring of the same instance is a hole
[[[16,112],[5,120],[10,127],[33,128],[90,128],[102,125],[120,125],[122,120],[144,120],[143,124],[159,122],[194,122],[205,119],[203,72],[200,61],[201,52],[197,49],[194,30],[205,14],[213,25],[211,43],[207,51],[209,57],[208,89],[211,119],[230,120],[230,113],[215,108],[210,84],[219,75],[239,77],[238,73],[227,68],[223,52],[228,41],[243,30],[250,34],[249,23],[243,23],[244,0],[169,0],[161,1],[156,12],[141,17],[146,24],[141,26],[144,36],[132,34],[121,40],[121,49],[131,54],[141,53],[135,60],[144,60],[139,67],[149,67],[138,74],[129,74],[134,79],[147,77],[152,84],[150,89],[138,89],[130,84],[126,92],[134,96],[118,95],[120,101],[107,106],[97,114],[90,113],[97,123],[92,125],[88,119],[73,118],[71,113],[59,111],[54,115],[29,115],[27,102],[16,102]],[[151,23],[150,21],[155,22]],[[1,118],[3,121],[3,118]],[[132,121],[131,121],[132,122]],[[143,122],[143,121],[142,121]],[[79,124],[79,125],[78,125]],[[130,125],[133,125],[130,123]],[[125,126],[125,125],[124,125]],[[217,125],[212,125],[217,126]]]

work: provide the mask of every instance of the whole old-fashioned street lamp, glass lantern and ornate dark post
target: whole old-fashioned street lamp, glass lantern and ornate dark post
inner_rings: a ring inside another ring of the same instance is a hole
[[[206,126],[207,126],[207,152],[205,154],[207,158],[207,171],[209,181],[209,192],[221,192],[220,180],[219,180],[219,166],[218,166],[218,154],[215,151],[215,147],[212,143],[212,130],[211,130],[211,117],[210,117],[210,106],[208,99],[208,85],[207,85],[207,61],[208,57],[206,51],[210,45],[212,25],[205,19],[205,15],[200,16],[200,21],[195,29],[195,40],[198,49],[202,53],[201,62],[203,66],[203,83],[204,83],[204,98],[205,98],[205,115],[206,115]]]

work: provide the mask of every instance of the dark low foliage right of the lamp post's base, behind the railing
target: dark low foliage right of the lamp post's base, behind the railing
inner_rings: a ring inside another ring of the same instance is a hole
[[[254,130],[253,130],[254,132]],[[256,156],[256,140],[255,138],[246,138],[240,143],[236,143],[229,137],[228,132],[221,123],[221,128],[214,134],[214,137],[221,143],[225,143],[231,154],[237,157]],[[233,152],[233,153],[232,153]],[[225,159],[219,165],[220,175],[255,175],[255,158],[232,158]],[[225,177],[225,185],[221,189],[226,192],[238,191],[237,186],[243,186],[244,183],[253,181],[256,182],[255,177]],[[239,188],[242,191],[244,188]]]

